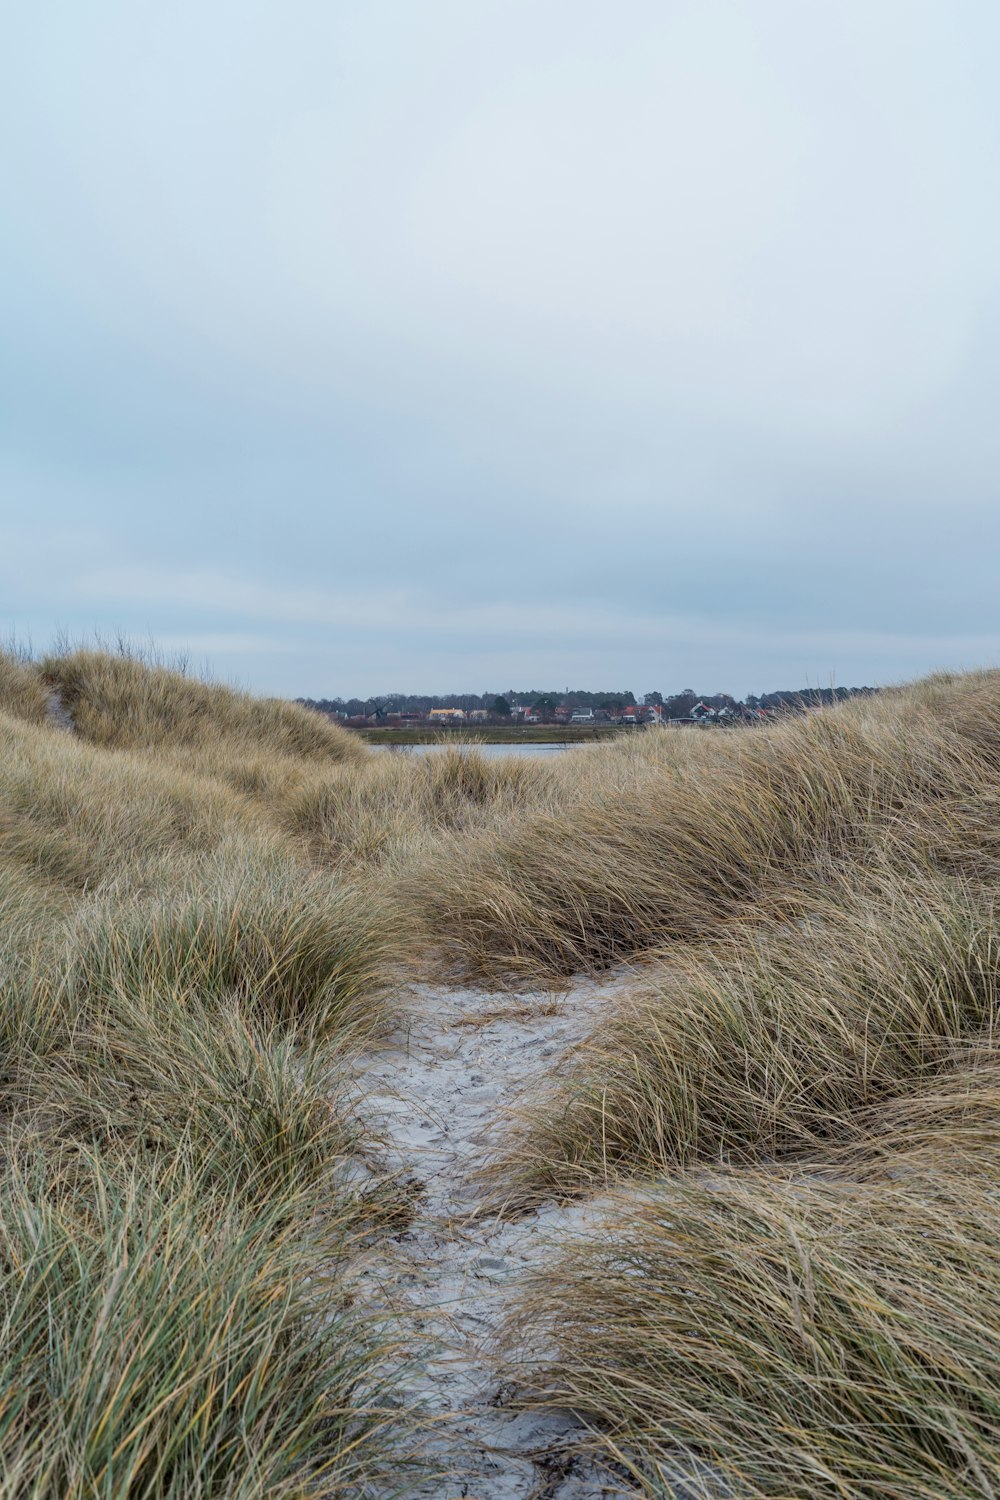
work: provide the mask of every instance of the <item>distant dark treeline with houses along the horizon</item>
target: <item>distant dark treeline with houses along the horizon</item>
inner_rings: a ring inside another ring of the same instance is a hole
[[[777,693],[748,693],[745,699],[732,698],[729,693],[696,693],[693,687],[685,687],[679,693],[646,693],[643,704],[663,704],[669,718],[681,718],[690,714],[696,704],[708,704],[709,708],[814,708],[820,704],[840,704],[846,698],[877,693],[877,687],[798,687],[781,688]],[[639,702],[634,693],[604,692],[588,693],[583,688],[573,692],[555,690],[520,690],[508,687],[504,693],[379,693],[375,698],[300,698],[306,708],[315,708],[321,714],[337,714],[355,718],[372,714],[427,714],[432,708],[486,708],[490,712],[508,714],[516,704],[531,706],[541,712],[556,708],[603,708],[609,712],[621,712]]]

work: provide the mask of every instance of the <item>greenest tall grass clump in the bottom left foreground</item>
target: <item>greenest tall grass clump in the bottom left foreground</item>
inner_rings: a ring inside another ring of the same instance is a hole
[[[388,1449],[385,1330],[348,1304],[342,1234],[183,1156],[9,1155],[3,1492],[364,1492]]]

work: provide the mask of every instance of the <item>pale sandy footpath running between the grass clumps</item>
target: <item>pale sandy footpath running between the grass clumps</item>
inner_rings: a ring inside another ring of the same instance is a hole
[[[511,1414],[483,1347],[511,1286],[547,1242],[597,1215],[543,1206],[514,1222],[477,1218],[471,1180],[489,1155],[504,1107],[582,1038],[609,990],[565,996],[418,990],[409,1030],[367,1059],[363,1108],[385,1120],[400,1172],[424,1184],[412,1227],[369,1272],[372,1296],[408,1304],[429,1354],[409,1392],[441,1420],[427,1458],[448,1478],[414,1500],[607,1500],[619,1480],[574,1456],[583,1428],[570,1413]]]

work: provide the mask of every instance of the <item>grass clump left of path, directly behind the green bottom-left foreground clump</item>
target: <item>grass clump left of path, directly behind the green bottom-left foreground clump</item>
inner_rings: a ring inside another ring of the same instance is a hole
[[[339,1100],[343,1052],[238,1004],[127,990],[82,1012],[72,1046],[22,1064],[7,1095],[51,1138],[118,1160],[139,1148],[198,1161],[249,1202],[345,1212],[348,1167],[364,1144]],[[358,1230],[364,1232],[358,1215]]]

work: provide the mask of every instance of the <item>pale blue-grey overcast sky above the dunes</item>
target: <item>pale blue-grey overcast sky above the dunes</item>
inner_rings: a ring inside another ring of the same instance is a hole
[[[3,33],[3,630],[289,696],[1000,660],[996,0]]]

